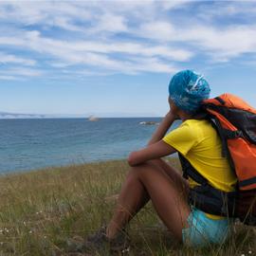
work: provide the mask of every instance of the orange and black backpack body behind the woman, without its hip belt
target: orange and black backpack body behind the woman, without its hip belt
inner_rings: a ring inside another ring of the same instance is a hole
[[[223,94],[203,102],[236,174],[235,216],[256,225],[256,109],[239,97]]]

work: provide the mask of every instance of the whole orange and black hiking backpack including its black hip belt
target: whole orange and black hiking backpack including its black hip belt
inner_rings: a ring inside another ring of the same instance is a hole
[[[183,176],[200,184],[190,189],[189,203],[199,210],[256,226],[256,109],[236,96],[223,94],[203,101],[202,110],[221,138],[222,155],[229,159],[237,186],[235,192],[213,188],[179,154]]]

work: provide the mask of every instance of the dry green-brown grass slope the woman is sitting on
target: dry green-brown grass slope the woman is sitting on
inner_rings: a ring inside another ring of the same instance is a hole
[[[176,159],[172,163],[179,168]],[[128,170],[125,161],[108,161],[2,176],[0,256],[68,255],[68,238],[84,237],[110,219]],[[242,224],[221,247],[182,247],[150,204],[131,222],[129,233],[129,255],[256,255],[256,229]]]

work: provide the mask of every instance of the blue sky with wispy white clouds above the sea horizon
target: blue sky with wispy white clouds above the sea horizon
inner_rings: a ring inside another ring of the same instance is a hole
[[[256,107],[256,1],[0,0],[0,112],[161,117],[182,69]]]

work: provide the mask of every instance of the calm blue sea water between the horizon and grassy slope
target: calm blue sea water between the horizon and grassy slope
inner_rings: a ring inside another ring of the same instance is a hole
[[[0,173],[126,158],[152,136],[149,120],[161,119],[0,119]]]

